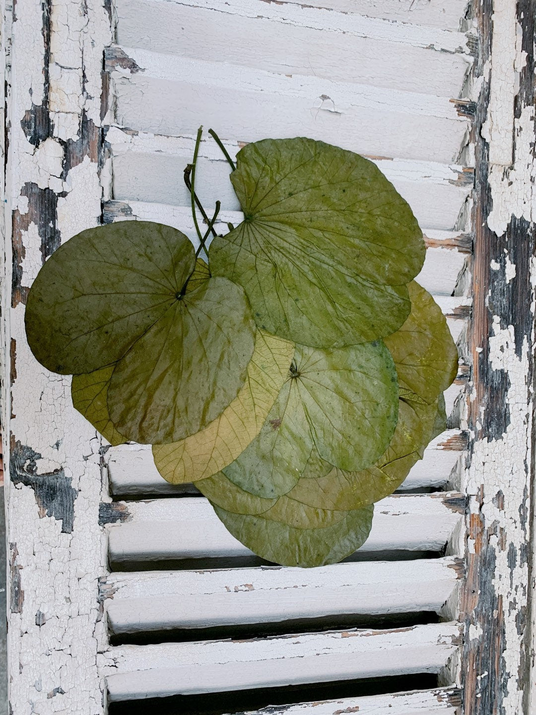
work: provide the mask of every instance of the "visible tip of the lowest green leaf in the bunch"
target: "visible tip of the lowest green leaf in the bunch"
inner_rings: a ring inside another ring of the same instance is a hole
[[[214,506],[214,511],[232,536],[257,556],[282,566],[312,568],[337,563],[357,551],[369,536],[374,507],[348,511],[323,528],[297,528],[263,516],[235,514],[219,506]]]

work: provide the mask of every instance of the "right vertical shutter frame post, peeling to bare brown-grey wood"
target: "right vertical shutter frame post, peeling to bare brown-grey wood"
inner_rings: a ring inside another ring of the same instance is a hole
[[[475,439],[462,485],[470,495],[470,514],[461,672],[466,715],[520,715],[532,712],[527,608],[534,583],[529,539],[534,483],[536,3],[484,0],[475,2],[474,10],[482,86],[473,137],[474,367],[468,420]]]

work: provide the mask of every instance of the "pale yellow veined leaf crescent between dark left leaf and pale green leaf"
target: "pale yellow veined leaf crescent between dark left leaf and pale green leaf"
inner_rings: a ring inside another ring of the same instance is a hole
[[[154,463],[164,479],[172,484],[194,482],[232,463],[259,434],[293,355],[292,342],[257,330],[246,381],[232,403],[204,430],[179,442],[153,446]]]

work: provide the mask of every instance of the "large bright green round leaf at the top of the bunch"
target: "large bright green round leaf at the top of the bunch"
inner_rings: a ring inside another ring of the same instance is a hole
[[[425,244],[375,164],[313,139],[264,139],[239,151],[231,181],[244,221],[214,238],[209,265],[244,287],[259,327],[327,348],[402,325]]]

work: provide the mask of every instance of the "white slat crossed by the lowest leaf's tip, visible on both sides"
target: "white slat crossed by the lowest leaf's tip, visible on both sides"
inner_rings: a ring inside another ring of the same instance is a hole
[[[392,495],[374,507],[369,538],[359,553],[441,551],[465,511],[460,495]],[[119,502],[109,519],[109,557],[121,561],[165,561],[252,556],[227,531],[207,499],[159,498]]]

